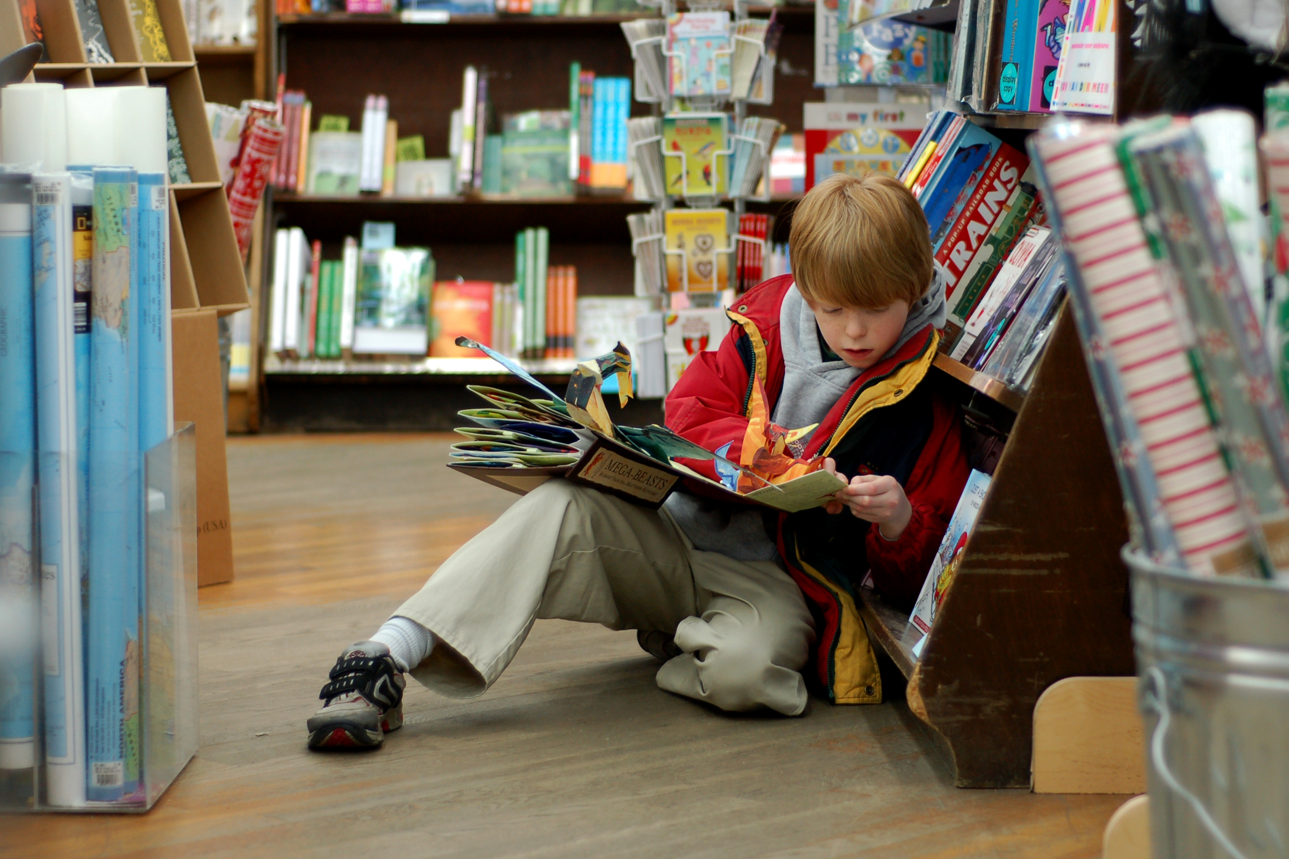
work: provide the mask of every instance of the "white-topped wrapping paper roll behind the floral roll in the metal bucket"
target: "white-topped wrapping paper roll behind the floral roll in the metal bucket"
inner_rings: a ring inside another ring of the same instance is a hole
[[[1253,117],[1244,111],[1209,111],[1191,120],[1204,144],[1204,162],[1221,201],[1222,220],[1258,325],[1266,322],[1267,283],[1262,263],[1262,205]]]

